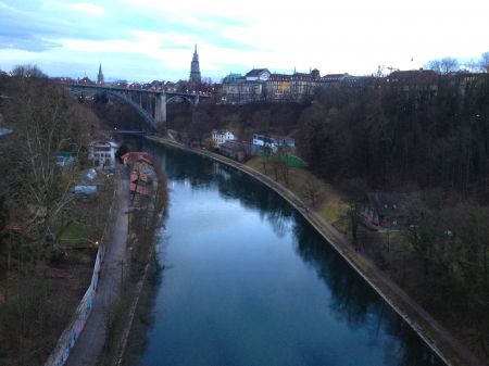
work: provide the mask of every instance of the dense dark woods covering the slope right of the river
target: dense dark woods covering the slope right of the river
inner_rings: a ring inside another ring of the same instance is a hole
[[[487,193],[488,100],[488,74],[439,76],[429,88],[322,89],[300,117],[299,147],[328,180]]]

